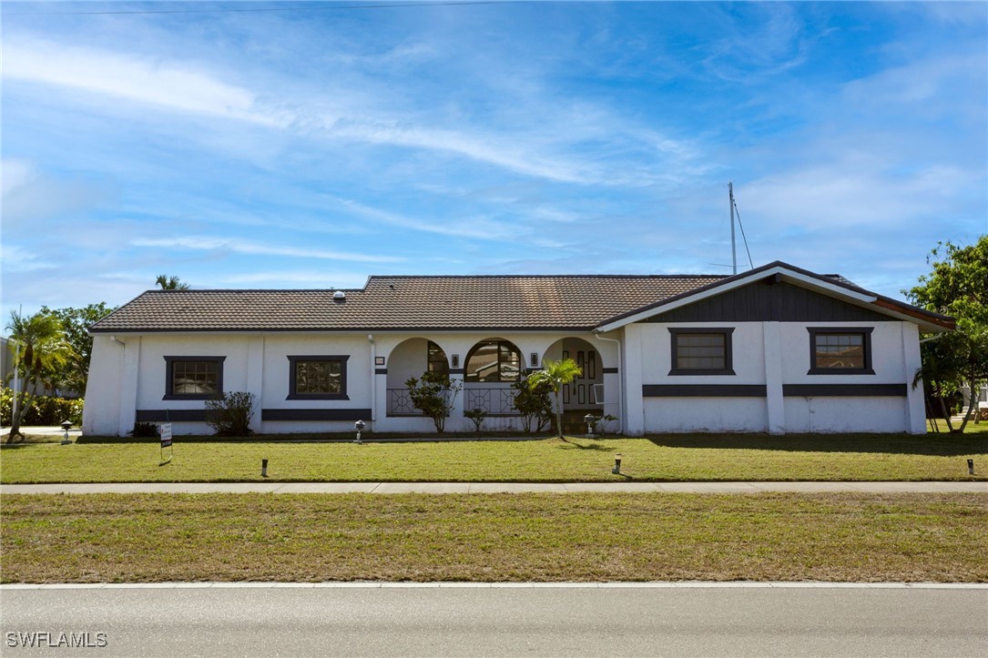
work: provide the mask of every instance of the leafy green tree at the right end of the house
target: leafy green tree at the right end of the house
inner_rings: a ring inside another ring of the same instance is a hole
[[[919,286],[903,290],[917,306],[949,315],[956,331],[927,341],[922,349],[922,377],[931,387],[947,418],[951,433],[964,431],[977,409],[977,391],[988,380],[988,235],[975,244],[957,246],[941,242],[927,257],[933,272],[919,279]],[[971,390],[970,404],[960,426],[954,428],[946,396],[962,386]]]

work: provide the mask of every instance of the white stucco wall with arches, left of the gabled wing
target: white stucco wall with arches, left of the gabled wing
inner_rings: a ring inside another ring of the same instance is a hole
[[[459,368],[469,350],[479,341],[503,339],[514,343],[522,353],[526,367],[530,367],[530,355],[539,355],[539,364],[545,351],[564,337],[578,336],[590,343],[601,358],[600,368],[617,368],[617,346],[599,341],[590,334],[522,334],[500,335],[481,333],[387,333],[374,334],[145,334],[118,336],[120,343],[109,336],[94,338],[93,366],[86,391],[83,421],[84,432],[91,435],[125,435],[133,428],[138,410],[186,411],[204,409],[203,400],[166,400],[167,363],[165,357],[224,357],[222,364],[223,391],[247,391],[257,398],[257,412],[251,424],[259,434],[319,433],[353,431],[352,420],[341,421],[262,421],[262,411],[272,410],[371,410],[368,431],[380,432],[435,432],[432,420],[423,417],[387,417],[386,390],[388,374],[384,370],[394,368],[421,374],[426,368],[426,341],[439,344],[448,357],[459,356]],[[405,341],[413,342],[403,347],[411,349],[391,355]],[[421,349],[419,349],[421,348]],[[418,353],[421,352],[421,355]],[[384,366],[375,366],[372,355],[382,357]],[[340,400],[289,400],[289,356],[349,356],[347,360],[347,388],[349,399]],[[417,372],[416,372],[417,370]],[[453,373],[453,378],[462,378]],[[618,415],[619,388],[613,383],[617,375],[607,375],[605,409]],[[401,377],[401,383],[407,376]],[[469,385],[469,384],[467,384]],[[508,386],[509,384],[503,384]],[[457,395],[453,413],[447,422],[449,431],[473,429],[469,419],[463,418],[463,393]],[[517,417],[488,418],[485,429],[519,428]],[[211,434],[203,422],[175,421],[176,435]]]

